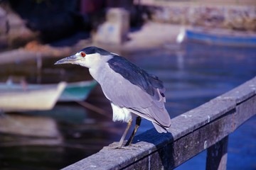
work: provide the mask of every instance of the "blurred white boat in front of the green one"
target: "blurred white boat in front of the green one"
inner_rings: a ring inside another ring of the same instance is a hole
[[[55,106],[66,83],[0,84],[0,111],[46,111]]]

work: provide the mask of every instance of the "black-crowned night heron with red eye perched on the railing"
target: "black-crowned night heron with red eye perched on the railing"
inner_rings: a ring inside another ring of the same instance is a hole
[[[127,122],[127,128],[118,147],[122,147],[133,115],[137,115],[136,125],[125,146],[132,142],[141,123],[141,117],[150,120],[157,132],[167,132],[170,127],[171,118],[164,107],[166,98],[162,81],[124,57],[99,47],[85,47],[75,55],[58,60],[55,64],[79,64],[89,68],[90,74],[111,102],[113,121]]]

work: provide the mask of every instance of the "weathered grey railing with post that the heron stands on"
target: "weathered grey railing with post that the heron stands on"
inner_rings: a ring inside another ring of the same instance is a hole
[[[174,169],[204,149],[206,169],[225,169],[228,135],[255,114],[256,77],[172,119],[169,133],[148,130],[130,147],[105,147],[64,169]]]

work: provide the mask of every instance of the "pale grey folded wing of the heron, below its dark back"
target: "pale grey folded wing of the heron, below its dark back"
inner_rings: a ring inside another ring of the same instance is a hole
[[[105,96],[114,105],[129,108],[133,113],[151,120],[161,127],[168,128],[171,125],[169,113],[164,107],[165,98],[159,89],[154,88],[154,96],[152,96],[141,86],[132,84],[110,67],[109,69],[108,73],[112,74],[105,74],[104,81],[99,83]]]

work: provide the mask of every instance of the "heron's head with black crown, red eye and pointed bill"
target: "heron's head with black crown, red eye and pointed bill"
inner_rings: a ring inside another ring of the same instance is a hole
[[[105,64],[112,58],[113,54],[99,47],[85,47],[75,55],[65,57],[55,64],[78,64],[83,67],[95,67]]]

